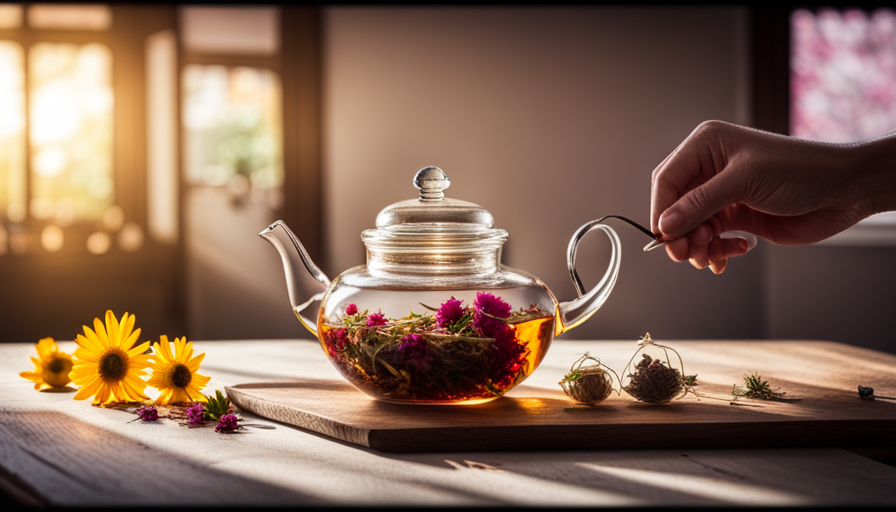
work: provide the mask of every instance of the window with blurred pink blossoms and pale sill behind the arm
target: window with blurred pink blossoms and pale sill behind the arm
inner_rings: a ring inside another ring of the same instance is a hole
[[[791,135],[855,142],[896,130],[896,11],[798,9],[790,31]],[[823,243],[896,245],[896,212]]]

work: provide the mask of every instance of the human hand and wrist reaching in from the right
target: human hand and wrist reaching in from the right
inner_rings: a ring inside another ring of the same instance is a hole
[[[891,152],[894,140],[885,139]],[[783,245],[823,240],[877,213],[879,175],[892,180],[893,172],[868,164],[881,154],[876,142],[827,144],[702,123],[653,171],[651,230],[667,240],[672,260],[716,274],[748,250],[746,240],[723,232]]]

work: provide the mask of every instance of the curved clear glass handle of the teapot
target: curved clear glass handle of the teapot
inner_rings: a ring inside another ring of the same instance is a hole
[[[591,317],[591,315],[606,302],[607,298],[610,296],[610,292],[613,291],[613,286],[616,285],[616,278],[619,276],[619,265],[622,262],[622,242],[619,240],[619,235],[616,234],[616,231],[614,231],[613,228],[600,223],[602,220],[603,219],[593,220],[580,227],[578,231],[572,235],[572,238],[569,241],[566,264],[569,267],[569,276],[572,278],[572,283],[575,285],[576,293],[578,293],[579,296],[569,302],[560,303],[560,322],[557,325],[556,334],[568,331]],[[590,292],[585,293],[585,287],[582,285],[582,280],[579,278],[579,273],[576,271],[576,252],[582,238],[595,229],[603,230],[607,236],[610,237],[610,244],[612,246],[610,266],[607,267],[604,277],[600,280],[597,286]]]

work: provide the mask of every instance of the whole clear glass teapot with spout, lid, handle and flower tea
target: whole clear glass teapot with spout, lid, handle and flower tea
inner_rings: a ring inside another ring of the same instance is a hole
[[[481,206],[446,198],[449,185],[437,167],[417,172],[420,197],[383,209],[376,229],[361,234],[367,265],[333,281],[282,221],[259,233],[280,253],[296,316],[336,369],[374,398],[494,400],[535,371],[554,336],[587,320],[616,284],[621,243],[609,226],[592,221],[573,235],[567,263],[579,297],[558,302],[540,279],[501,264],[507,232]],[[612,252],[603,279],[585,293],[575,257],[594,229],[610,237]],[[302,297],[303,271],[325,291]],[[303,313],[315,300],[321,305],[312,320]]]

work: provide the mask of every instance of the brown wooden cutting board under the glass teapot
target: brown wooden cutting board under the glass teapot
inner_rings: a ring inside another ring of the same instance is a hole
[[[631,342],[589,342],[621,372]],[[697,373],[704,395],[665,405],[623,393],[576,406],[558,385],[578,354],[549,354],[526,384],[473,406],[402,405],[374,400],[347,381],[296,379],[230,386],[243,410],[384,452],[896,446],[896,400],[861,400],[857,386],[896,396],[896,356],[832,342],[670,342]],[[566,344],[567,347],[572,344]],[[567,362],[568,361],[568,362]],[[553,364],[552,364],[553,362]],[[548,378],[543,372],[557,373]],[[793,401],[743,400],[745,373]],[[542,378],[536,379],[536,375]]]

